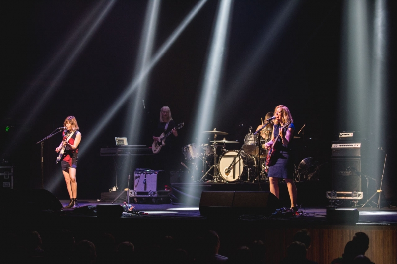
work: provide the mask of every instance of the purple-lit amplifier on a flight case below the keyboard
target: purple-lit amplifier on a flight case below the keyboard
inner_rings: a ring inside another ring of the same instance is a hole
[[[135,191],[164,191],[169,181],[169,176],[167,177],[163,170],[137,169],[134,171],[133,189]]]

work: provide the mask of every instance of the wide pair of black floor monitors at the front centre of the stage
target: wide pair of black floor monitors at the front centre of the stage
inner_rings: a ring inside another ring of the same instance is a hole
[[[206,217],[229,217],[243,214],[270,215],[280,207],[270,192],[203,191],[199,211]]]

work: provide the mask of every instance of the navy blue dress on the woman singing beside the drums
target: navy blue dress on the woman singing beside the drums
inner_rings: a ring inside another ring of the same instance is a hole
[[[276,138],[279,134],[279,129],[280,125],[277,124],[274,126],[274,138]],[[295,126],[293,123],[289,125],[292,129],[295,129]],[[284,135],[287,129],[284,129]],[[271,166],[269,166],[269,171],[267,173],[267,177],[272,177],[272,178],[282,178],[282,179],[292,179],[293,178],[293,172],[294,172],[294,164],[293,164],[293,159],[291,158],[291,146],[292,146],[292,141],[293,137],[289,139],[289,144],[288,146],[285,146],[282,144],[281,138],[278,138],[277,140],[277,145],[275,146],[275,153],[272,154],[272,158],[275,158],[275,162]],[[275,144],[275,143],[273,143]]]

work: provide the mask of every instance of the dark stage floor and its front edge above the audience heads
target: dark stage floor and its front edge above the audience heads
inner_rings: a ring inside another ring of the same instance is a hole
[[[281,190],[282,184],[280,182]],[[102,193],[100,197],[79,199],[80,207],[77,209],[61,209],[60,206],[66,206],[69,200],[58,200],[46,190],[31,190],[23,194],[13,192],[7,200],[9,206],[2,208],[2,222],[7,226],[2,234],[21,229],[36,230],[45,240],[60,230],[68,229],[73,232],[76,241],[92,241],[99,234],[110,233],[118,243],[131,241],[138,252],[145,245],[172,236],[181,248],[189,252],[196,237],[206,230],[215,230],[220,237],[220,254],[231,256],[238,247],[261,240],[266,247],[266,263],[279,263],[285,256],[286,247],[292,242],[294,233],[305,228],[312,238],[308,258],[318,263],[330,263],[342,255],[345,244],[353,235],[362,231],[370,238],[366,256],[375,263],[396,263],[396,207],[382,204],[381,208],[377,208],[375,202],[364,207],[354,207],[351,203],[330,206],[329,203],[324,203],[327,199],[320,199],[316,193],[311,193],[311,202],[310,198],[302,198],[302,194],[315,188],[316,184],[297,183],[301,192],[299,201],[305,202],[300,203],[298,212],[277,208],[274,211],[264,211],[263,215],[258,214],[249,204],[244,214],[236,214],[234,212],[237,210],[233,206],[227,210],[219,206],[218,199],[209,201],[208,205],[208,201],[203,204],[195,197],[201,191],[219,195],[221,199],[229,193],[243,193],[248,195],[248,200],[253,194],[270,198],[266,183],[172,184],[169,200],[135,201],[130,197],[130,206],[127,192]],[[259,186],[262,191],[257,190]],[[192,189],[196,191],[185,192]],[[187,203],[189,199],[186,193],[192,198],[190,204]],[[286,190],[285,193],[282,192],[277,206],[282,206],[287,196]],[[119,198],[116,199],[117,197]],[[271,200],[268,201],[270,203]],[[127,208],[123,208],[123,205],[127,205],[131,211],[126,211]],[[203,206],[211,205],[211,210],[202,215]],[[274,205],[267,204],[264,207],[274,208]]]

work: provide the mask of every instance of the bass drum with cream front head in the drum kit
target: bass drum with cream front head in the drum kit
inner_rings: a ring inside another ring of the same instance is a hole
[[[248,174],[253,175],[255,172],[255,169],[252,169],[256,167],[255,158],[244,151],[240,151],[239,157],[236,157],[237,153],[237,150],[230,150],[225,152],[219,159],[220,175],[225,181],[248,180]],[[234,159],[235,157],[236,159]],[[227,173],[230,164],[232,164],[232,167],[230,172]]]

